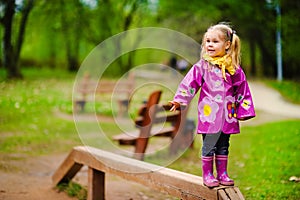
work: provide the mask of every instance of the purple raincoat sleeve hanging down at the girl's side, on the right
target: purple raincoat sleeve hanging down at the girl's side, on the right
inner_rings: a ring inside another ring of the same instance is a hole
[[[237,119],[247,120],[255,117],[252,95],[246,75],[241,67],[233,75],[233,86],[235,89]]]

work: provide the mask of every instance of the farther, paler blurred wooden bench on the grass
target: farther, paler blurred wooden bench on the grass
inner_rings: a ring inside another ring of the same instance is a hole
[[[135,78],[133,73],[128,73],[128,77],[118,82],[116,81],[95,81],[89,74],[85,74],[82,80],[75,86],[74,112],[83,112],[85,105],[91,98],[97,95],[113,94],[118,96],[118,115],[123,116],[127,111],[134,91]],[[100,99],[101,101],[103,99]]]

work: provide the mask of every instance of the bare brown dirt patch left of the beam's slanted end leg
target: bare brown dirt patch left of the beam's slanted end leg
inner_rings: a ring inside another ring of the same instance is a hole
[[[0,200],[70,200],[66,193],[52,188],[51,175],[64,155],[29,158],[1,156]]]

